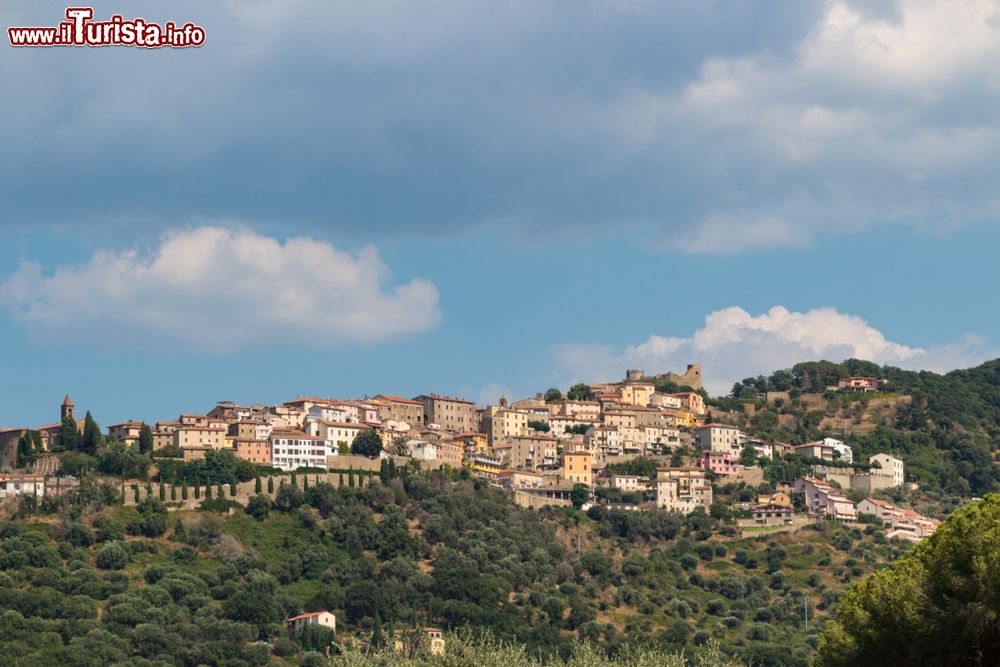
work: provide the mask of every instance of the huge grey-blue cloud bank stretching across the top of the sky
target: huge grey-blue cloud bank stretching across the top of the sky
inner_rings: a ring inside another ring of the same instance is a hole
[[[45,25],[45,5],[7,2],[0,18]],[[993,0],[134,9],[202,23],[208,42],[9,54],[0,224],[615,222],[703,253],[1000,213]]]

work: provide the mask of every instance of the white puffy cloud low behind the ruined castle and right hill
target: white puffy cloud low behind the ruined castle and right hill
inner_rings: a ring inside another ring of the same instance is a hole
[[[774,306],[751,315],[742,308],[716,311],[688,337],[650,336],[642,343],[615,350],[602,345],[566,344],[554,350],[556,363],[570,381],[621,379],[626,368],[647,372],[683,370],[702,365],[706,388],[725,394],[745,377],[789,368],[800,361],[867,359],[908,369],[946,372],[1000,356],[986,341],[966,336],[961,341],[926,348],[894,342],[860,317],[834,308],[804,313]]]

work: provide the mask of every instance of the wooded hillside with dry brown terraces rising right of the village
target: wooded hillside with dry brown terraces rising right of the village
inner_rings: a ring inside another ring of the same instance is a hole
[[[828,389],[854,375],[888,384],[876,394]],[[736,383],[711,409],[713,418],[781,442],[840,438],[855,460],[895,453],[932,494],[957,499],[1000,489],[1000,360],[945,375],[856,359],[801,363]]]

